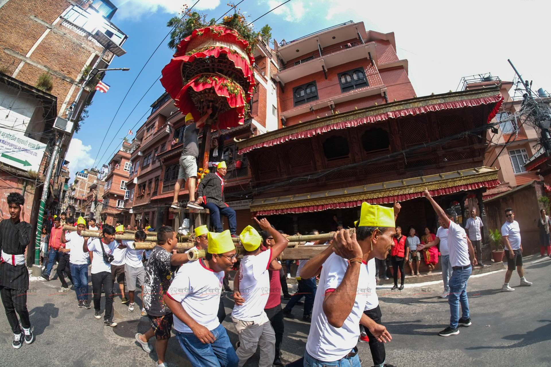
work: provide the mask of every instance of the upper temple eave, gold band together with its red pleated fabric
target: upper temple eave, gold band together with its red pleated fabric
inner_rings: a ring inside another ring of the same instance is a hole
[[[253,138],[241,141],[237,146],[239,147],[239,154],[244,154],[253,149],[283,144],[286,141],[294,139],[310,138],[311,136],[327,133],[331,130],[348,129],[391,118],[482,105],[493,105],[487,117],[487,122],[490,122],[495,117],[495,114],[498,113],[502,103],[503,96],[497,88],[417,97],[291,125],[283,129],[274,130],[273,132],[253,136]]]

